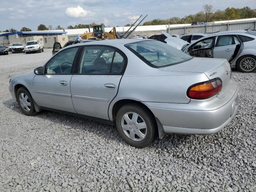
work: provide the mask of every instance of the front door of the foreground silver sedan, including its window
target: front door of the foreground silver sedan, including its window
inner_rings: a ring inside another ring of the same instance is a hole
[[[33,87],[39,106],[76,112],[70,92],[70,80],[79,47],[62,50],[44,66],[44,75],[36,75]]]

